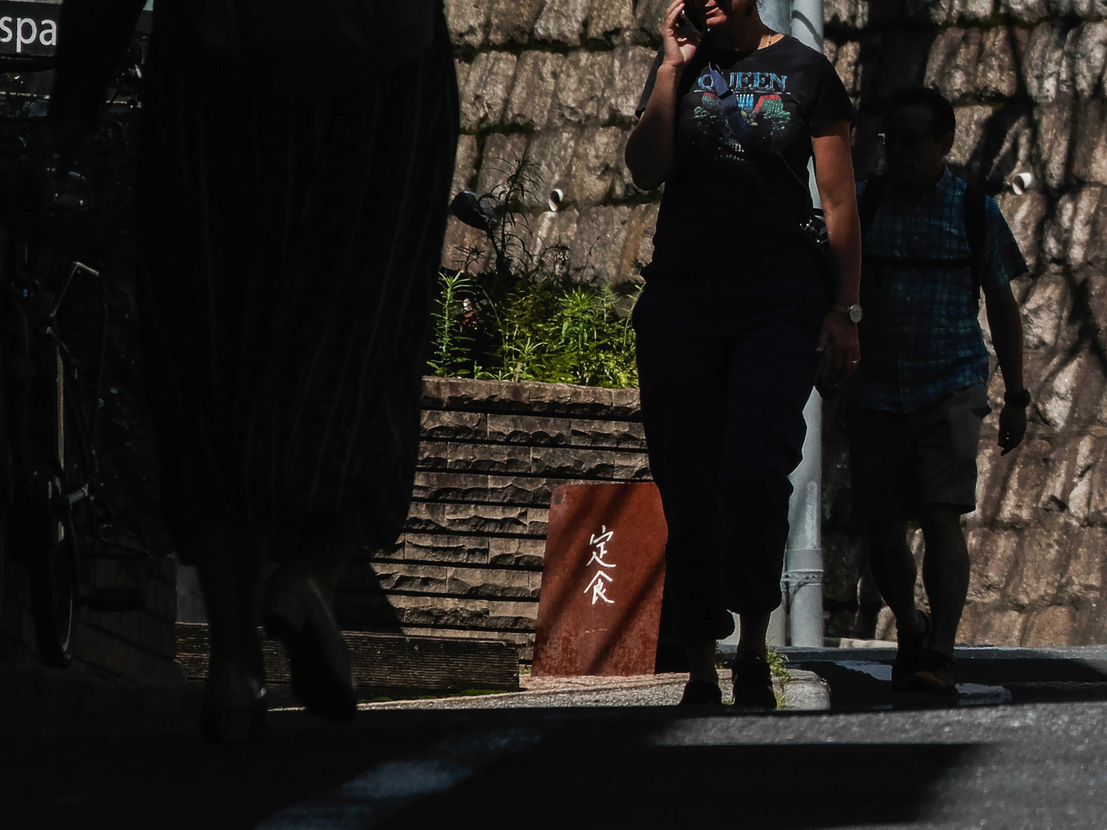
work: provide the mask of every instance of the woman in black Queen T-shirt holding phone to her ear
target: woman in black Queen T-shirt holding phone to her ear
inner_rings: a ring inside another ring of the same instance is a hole
[[[853,108],[826,58],[766,27],[756,0],[676,0],[661,35],[627,166],[643,189],[665,185],[634,328],[665,593],[691,668],[681,703],[721,703],[715,641],[734,612],[734,702],[769,708],[765,634],[804,405],[817,373],[836,385],[860,360]],[[804,229],[813,156],[832,269]]]

